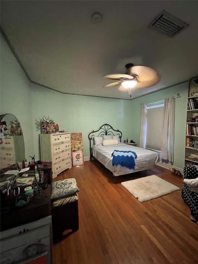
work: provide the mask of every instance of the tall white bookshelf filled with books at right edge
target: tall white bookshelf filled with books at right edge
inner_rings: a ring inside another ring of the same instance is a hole
[[[198,95],[187,98],[184,166],[190,167],[192,165],[198,165]]]

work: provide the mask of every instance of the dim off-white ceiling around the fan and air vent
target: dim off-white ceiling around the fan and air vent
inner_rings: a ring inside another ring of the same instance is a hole
[[[148,28],[165,10],[189,26],[174,37]],[[133,99],[198,73],[198,1],[1,1],[1,27],[29,79],[62,93]],[[91,17],[100,12],[95,23]],[[125,64],[161,75],[149,88],[104,88]]]

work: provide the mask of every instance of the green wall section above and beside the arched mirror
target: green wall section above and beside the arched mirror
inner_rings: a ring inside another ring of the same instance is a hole
[[[1,35],[0,114],[15,115],[23,130],[26,158],[32,156],[30,82]]]

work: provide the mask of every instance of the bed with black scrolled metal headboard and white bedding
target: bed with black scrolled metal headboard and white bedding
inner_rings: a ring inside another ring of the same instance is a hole
[[[103,146],[102,144],[94,144],[94,138],[104,137],[106,135],[117,136],[119,139],[118,144]],[[143,149],[135,147],[133,145],[128,145],[121,143],[122,132],[120,130],[115,130],[109,124],[102,125],[98,130],[92,131],[88,135],[89,138],[89,149],[90,149],[90,160],[92,158],[97,159],[101,162],[109,171],[112,172],[114,176],[125,175],[137,171],[144,171],[153,168],[153,165],[159,161],[159,154],[155,151],[149,149]],[[131,170],[121,165],[112,165],[114,150],[118,151],[133,151],[136,153],[137,158],[135,159],[135,169]]]

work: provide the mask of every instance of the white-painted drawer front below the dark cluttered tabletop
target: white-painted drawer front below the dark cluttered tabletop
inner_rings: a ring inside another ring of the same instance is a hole
[[[52,264],[51,216],[1,232],[0,252],[1,263],[45,259],[42,263]]]

